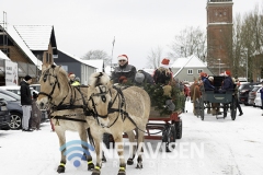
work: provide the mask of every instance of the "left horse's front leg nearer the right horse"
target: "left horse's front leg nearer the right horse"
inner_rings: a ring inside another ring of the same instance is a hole
[[[79,130],[79,137],[82,141],[85,141],[88,143],[88,135],[85,128]],[[82,160],[88,162],[88,171],[92,171],[94,168],[94,164],[92,163],[92,156],[90,154],[89,148],[85,145],[82,145],[82,148],[88,151],[88,155],[83,153]]]

